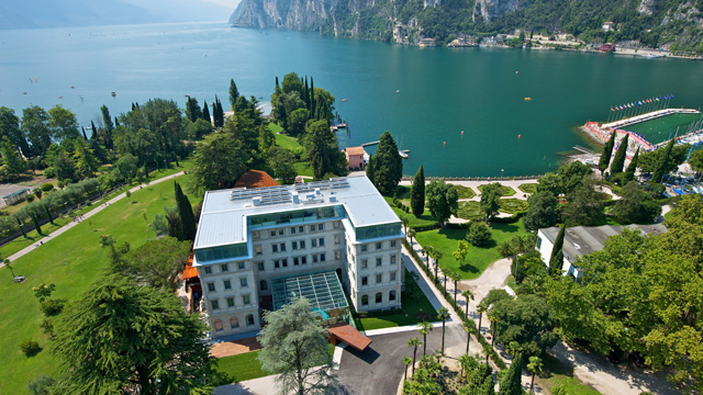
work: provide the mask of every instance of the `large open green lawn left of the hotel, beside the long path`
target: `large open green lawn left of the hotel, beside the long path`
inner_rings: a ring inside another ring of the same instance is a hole
[[[178,180],[186,181],[185,178]],[[54,297],[69,302],[79,298],[107,267],[108,256],[100,247],[100,236],[111,235],[120,244],[129,241],[132,248],[140,247],[154,237],[148,224],[155,214],[164,212],[164,206],[174,204],[172,196],[172,181],[147,187],[37,247],[12,263],[15,275],[26,276],[24,283],[14,283],[10,270],[0,269],[0,316],[4,323],[0,326],[0,360],[4,365],[0,381],[4,393],[25,394],[26,382],[35,376],[58,375],[58,361],[38,327],[44,316],[32,287],[55,283]],[[191,196],[191,201],[194,200]],[[27,338],[38,341],[43,351],[32,358],[24,357],[19,343]]]

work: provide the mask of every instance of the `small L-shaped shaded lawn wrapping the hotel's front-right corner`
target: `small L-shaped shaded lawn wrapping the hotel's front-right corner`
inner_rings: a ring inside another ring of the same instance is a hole
[[[392,328],[415,325],[421,320],[436,320],[437,313],[422,292],[413,276],[405,270],[405,291],[401,294],[403,308],[382,313],[356,313],[355,323],[359,330]]]

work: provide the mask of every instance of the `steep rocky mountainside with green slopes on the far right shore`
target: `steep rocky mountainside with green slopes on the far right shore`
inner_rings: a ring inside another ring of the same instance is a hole
[[[703,52],[702,10],[703,0],[242,0],[230,23],[406,44],[521,29]]]

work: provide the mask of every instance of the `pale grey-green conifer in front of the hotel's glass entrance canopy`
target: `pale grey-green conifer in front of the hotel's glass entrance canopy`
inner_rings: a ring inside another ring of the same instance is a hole
[[[325,394],[337,387],[327,353],[328,332],[306,298],[265,312],[264,320],[266,326],[257,338],[261,343],[258,360],[265,371],[278,374],[280,394]]]

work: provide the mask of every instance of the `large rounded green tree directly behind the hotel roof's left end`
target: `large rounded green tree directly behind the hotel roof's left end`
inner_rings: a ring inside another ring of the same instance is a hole
[[[213,133],[204,138],[193,155],[192,187],[196,191],[234,185],[247,170],[248,153],[228,133]]]

